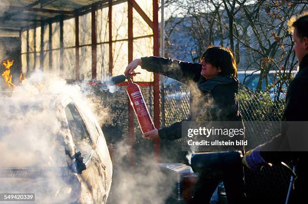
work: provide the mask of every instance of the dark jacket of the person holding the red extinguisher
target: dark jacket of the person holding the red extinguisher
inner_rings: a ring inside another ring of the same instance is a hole
[[[190,86],[189,121],[242,121],[236,93],[239,80],[217,76],[206,80],[201,76],[201,64],[163,57],[142,57],[142,68],[163,74]],[[182,136],[181,123],[159,130],[162,139],[175,140]]]

